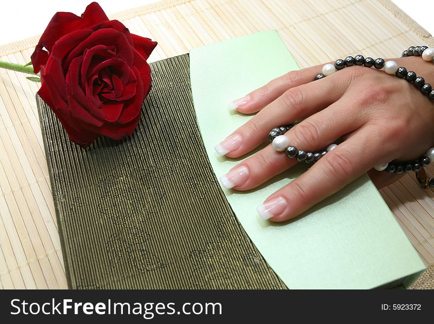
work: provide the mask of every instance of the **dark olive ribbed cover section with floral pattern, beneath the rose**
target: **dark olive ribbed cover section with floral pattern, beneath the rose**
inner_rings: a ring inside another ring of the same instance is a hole
[[[70,288],[286,288],[228,205],[195,118],[187,54],[151,64],[133,136],[68,140],[39,97]]]

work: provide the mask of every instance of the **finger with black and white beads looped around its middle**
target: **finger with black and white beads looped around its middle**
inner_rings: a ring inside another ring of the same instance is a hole
[[[345,108],[345,109],[343,109]],[[336,116],[339,115],[339,118]],[[290,129],[285,135],[289,145],[306,151],[324,149],[344,134],[360,128],[365,120],[346,101],[338,101],[328,108],[317,112]],[[252,157],[223,175],[220,180],[224,187],[236,190],[249,190],[297,163],[285,152],[278,152],[268,145]]]

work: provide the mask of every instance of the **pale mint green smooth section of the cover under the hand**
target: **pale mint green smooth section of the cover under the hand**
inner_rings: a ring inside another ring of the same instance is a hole
[[[214,145],[251,118],[230,114],[227,104],[291,70],[298,70],[297,64],[275,31],[191,51],[193,101],[217,177],[241,159],[219,157]],[[425,265],[366,175],[293,221],[259,218],[256,206],[304,168],[299,165],[250,192],[223,189],[283,282],[289,288],[375,288],[416,274],[404,282],[411,285]]]

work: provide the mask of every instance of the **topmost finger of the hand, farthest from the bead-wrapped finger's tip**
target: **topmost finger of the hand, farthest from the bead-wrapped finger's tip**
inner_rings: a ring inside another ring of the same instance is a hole
[[[229,109],[247,114],[259,111],[279,98],[288,89],[313,81],[319,71],[321,71],[321,67],[315,66],[288,72],[252,91],[245,97],[232,101],[229,103]]]

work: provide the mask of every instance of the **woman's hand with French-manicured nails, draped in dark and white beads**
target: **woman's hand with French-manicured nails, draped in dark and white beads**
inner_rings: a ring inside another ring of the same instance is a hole
[[[420,57],[393,60],[434,83],[433,63]],[[402,175],[378,172],[373,166],[418,158],[434,144],[434,105],[413,84],[363,66],[312,81],[322,67],[289,72],[230,105],[257,114],[216,145],[221,155],[240,157],[267,140],[272,128],[299,119],[303,121],[285,134],[290,145],[315,151],[343,139],[268,197],[257,209],[263,218],[284,221],[298,216],[368,171],[377,187],[390,184]],[[227,188],[249,190],[296,163],[269,144],[220,179]]]

